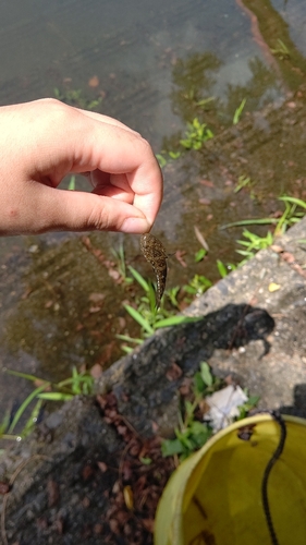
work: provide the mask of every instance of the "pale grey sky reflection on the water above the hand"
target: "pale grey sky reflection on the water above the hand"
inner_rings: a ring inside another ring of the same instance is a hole
[[[258,51],[234,2],[17,0],[0,7],[0,101],[53,95],[54,87],[102,96],[101,110],[132,124],[158,147],[171,126],[171,68],[193,51],[211,51],[230,66],[222,84],[245,83]],[[90,87],[93,76],[97,87]],[[222,85],[223,86],[223,85]],[[219,93],[223,88],[219,87]]]

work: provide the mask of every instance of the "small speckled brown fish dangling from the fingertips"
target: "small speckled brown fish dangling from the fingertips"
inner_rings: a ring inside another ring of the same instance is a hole
[[[152,266],[157,279],[156,307],[159,308],[160,300],[164,292],[167,278],[167,253],[161,242],[150,233],[142,234],[140,250]]]

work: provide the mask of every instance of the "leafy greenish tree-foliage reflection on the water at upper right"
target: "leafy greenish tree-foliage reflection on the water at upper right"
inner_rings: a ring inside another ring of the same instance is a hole
[[[216,96],[216,84],[222,65],[222,61],[210,52],[195,52],[175,62],[170,96],[173,111],[185,124],[198,118],[215,134],[220,133],[224,126],[233,123],[235,110],[243,100],[246,104],[245,110],[254,111],[281,97],[282,84],[278,74],[271,72],[257,56],[248,61],[249,78],[244,85],[227,83],[222,96]],[[180,137],[181,133],[174,137],[164,137],[163,148],[171,145],[178,148]]]

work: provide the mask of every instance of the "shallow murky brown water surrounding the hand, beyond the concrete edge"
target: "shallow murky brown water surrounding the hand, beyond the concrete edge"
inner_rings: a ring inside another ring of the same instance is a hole
[[[0,7],[0,102],[56,93],[82,107],[99,100],[98,111],[140,131],[167,158],[188,121],[206,122],[216,135],[207,152],[164,167],[155,232],[169,253],[181,252],[181,261],[169,259],[169,287],[195,272],[216,280],[216,258],[235,262],[241,235],[220,231],[221,223],[278,213],[274,197],[283,192],[305,198],[303,146],[292,131],[299,118],[284,116],[280,126],[260,113],[304,80],[305,21],[303,0],[145,0],[142,9],[134,0],[17,0]],[[278,50],[279,39],[289,55]],[[224,142],[218,135],[244,98],[242,125]],[[294,113],[294,95],[291,102]],[[250,111],[258,112],[255,132]],[[253,184],[235,194],[240,175]],[[210,247],[198,265],[194,226]],[[135,288],[118,278],[111,250],[123,243],[127,263],[150,276],[138,242],[105,233],[1,239],[1,366],[58,380],[73,365],[106,366],[119,358],[114,334],[134,332],[122,302],[135,299]],[[27,383],[1,376],[0,415],[29,391]]]

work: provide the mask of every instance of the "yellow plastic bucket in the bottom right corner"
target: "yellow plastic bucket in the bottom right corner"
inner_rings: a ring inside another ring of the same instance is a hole
[[[269,475],[269,508],[280,545],[305,545],[306,420],[283,420],[286,439]],[[244,426],[252,428],[249,440],[240,438]],[[261,485],[280,433],[270,414],[258,414],[222,429],[185,460],[159,501],[155,545],[271,545]]]

